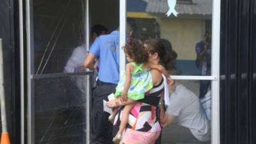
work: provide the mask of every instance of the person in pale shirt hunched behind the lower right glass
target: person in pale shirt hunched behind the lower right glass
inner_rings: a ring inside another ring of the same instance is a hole
[[[173,67],[170,74],[177,76],[179,72]],[[169,86],[170,106],[165,111],[163,100],[159,102],[161,125],[168,126],[162,134],[164,143],[210,143],[209,121],[198,97],[178,81]]]

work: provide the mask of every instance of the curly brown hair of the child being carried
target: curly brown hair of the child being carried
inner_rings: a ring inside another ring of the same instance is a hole
[[[148,52],[138,40],[129,38],[124,46],[124,52],[131,57],[135,63],[147,63]]]

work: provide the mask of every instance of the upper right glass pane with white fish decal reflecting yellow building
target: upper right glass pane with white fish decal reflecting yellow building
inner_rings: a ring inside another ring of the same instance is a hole
[[[127,21],[136,26],[134,37],[161,38],[169,51],[177,52],[181,75],[211,75],[212,0],[177,1],[179,14],[167,17],[172,6],[167,0],[127,1]]]

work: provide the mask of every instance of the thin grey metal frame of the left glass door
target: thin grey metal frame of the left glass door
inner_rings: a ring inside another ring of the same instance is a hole
[[[89,49],[89,40],[90,40],[90,29],[89,26],[89,0],[84,0],[86,2],[86,50]],[[92,72],[76,72],[70,74],[42,74],[42,75],[33,75],[34,68],[33,68],[33,54],[34,51],[31,47],[34,47],[34,40],[33,40],[33,0],[26,0],[24,1],[26,4],[26,54],[27,54],[27,74],[24,74],[24,33],[23,33],[23,5],[22,0],[19,0],[19,38],[20,38],[20,115],[21,115],[21,129],[20,129],[20,136],[21,136],[21,144],[27,142],[28,144],[35,143],[35,108],[34,108],[34,95],[33,95],[33,79],[38,78],[49,78],[49,77],[67,77],[67,76],[79,76],[79,75],[87,75],[86,81],[86,95],[91,95],[92,92],[90,90],[91,83],[90,83],[90,75]],[[24,80],[24,76],[27,76],[27,79]],[[27,93],[24,93],[24,82],[27,83]],[[25,110],[25,99],[26,97],[28,101],[27,109]],[[90,143],[90,97],[86,97],[86,143]],[[25,112],[26,111],[26,112]],[[27,118],[25,118],[27,116]],[[27,119],[27,122],[24,120]],[[26,124],[25,124],[26,123]],[[27,125],[27,127],[25,127]],[[25,129],[27,129],[26,136],[27,141],[24,140],[25,136]]]

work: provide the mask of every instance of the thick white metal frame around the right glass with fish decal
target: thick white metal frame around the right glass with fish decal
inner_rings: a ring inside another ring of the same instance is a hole
[[[212,85],[211,142],[220,144],[220,0],[212,0],[212,74],[211,76],[172,76],[179,80],[209,80]],[[120,49],[125,45],[126,0],[120,1]],[[125,70],[125,54],[120,51],[120,71]]]

